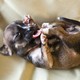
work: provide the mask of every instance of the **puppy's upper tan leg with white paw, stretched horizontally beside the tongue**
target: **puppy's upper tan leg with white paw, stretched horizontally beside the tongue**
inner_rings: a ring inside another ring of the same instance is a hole
[[[42,28],[42,32],[48,36],[56,35],[60,39],[69,36],[69,34],[62,27]]]

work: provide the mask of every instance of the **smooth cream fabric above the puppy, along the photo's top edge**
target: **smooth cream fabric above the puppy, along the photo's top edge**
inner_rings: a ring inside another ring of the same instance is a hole
[[[80,0],[4,0],[4,3],[21,17],[30,14],[38,23],[53,22],[57,16],[80,18]]]

